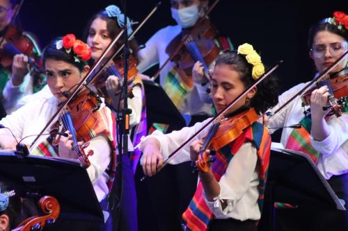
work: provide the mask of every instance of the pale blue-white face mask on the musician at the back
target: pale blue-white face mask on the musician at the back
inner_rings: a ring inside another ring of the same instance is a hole
[[[172,17],[182,28],[189,28],[196,24],[200,14],[198,5],[189,6],[180,10],[171,8]]]

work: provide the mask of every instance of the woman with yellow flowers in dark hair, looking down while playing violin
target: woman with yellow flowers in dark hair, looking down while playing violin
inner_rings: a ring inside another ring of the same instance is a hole
[[[258,62],[249,60],[249,63],[246,60],[246,56],[251,53],[258,57]],[[211,80],[212,99],[217,112],[226,108],[226,105],[262,75],[263,65],[258,67],[260,69],[256,72],[257,65],[262,65],[260,56],[250,44],[239,46],[238,52],[227,51],[219,55]],[[267,177],[265,173],[271,145],[267,129],[257,121],[257,113],[277,103],[278,95],[274,92],[276,86],[276,80],[269,77],[258,87],[250,89],[246,96],[237,101],[225,114],[226,118],[230,118],[228,121],[232,121],[252,110],[256,119],[246,126],[241,135],[236,135],[232,141],[227,140],[222,148],[215,150],[216,160],[208,162],[205,171],[198,169],[196,194],[183,214],[189,230],[257,229],[255,221],[260,219],[258,201],[261,203],[258,199],[262,198],[258,186],[263,186]],[[155,175],[164,158],[209,120],[166,135],[156,130],[152,135],[145,137],[141,142],[144,173],[147,176]],[[223,123],[221,122],[221,125]],[[231,128],[235,123],[230,124]],[[196,162],[200,159],[198,152],[203,145],[206,132],[207,130],[198,135],[190,146],[185,146],[171,162],[177,164],[189,160]],[[204,153],[212,153],[212,149],[208,148]]]

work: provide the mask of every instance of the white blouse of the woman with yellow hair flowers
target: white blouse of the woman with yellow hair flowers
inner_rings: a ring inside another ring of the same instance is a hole
[[[190,128],[182,128],[182,130],[174,131],[164,135],[156,130],[148,137],[155,137],[160,145],[160,152],[164,159],[168,157],[176,148],[184,143],[191,135],[202,128],[210,119],[202,123],[196,123]],[[205,134],[202,132],[201,134]],[[142,143],[148,139],[145,137]],[[202,135],[198,135],[196,139],[202,139]],[[193,139],[193,140],[196,140]],[[142,145],[140,144],[140,146]],[[181,162],[190,161],[189,144],[185,146],[180,153],[177,153],[171,159],[171,164],[179,164]],[[142,161],[141,161],[142,162]],[[219,181],[220,194],[214,201],[205,201],[209,209],[214,213],[216,219],[233,218],[240,221],[247,219],[260,219],[260,209],[258,207],[258,154],[255,146],[247,142],[239,148],[239,151],[232,157],[226,169],[226,173]],[[222,202],[228,206],[222,207]]]

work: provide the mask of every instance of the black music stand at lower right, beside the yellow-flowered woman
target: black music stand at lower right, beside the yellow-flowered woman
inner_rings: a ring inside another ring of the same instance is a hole
[[[314,209],[345,210],[314,162],[299,151],[271,148],[265,190],[259,230],[275,230],[274,202]]]

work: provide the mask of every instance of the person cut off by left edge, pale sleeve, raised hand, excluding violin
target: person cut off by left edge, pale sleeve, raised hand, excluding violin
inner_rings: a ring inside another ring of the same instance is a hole
[[[6,37],[11,19],[18,7],[18,0],[0,1],[0,40]],[[19,30],[17,27],[15,28]],[[33,57],[37,58],[41,51],[35,35],[22,32],[22,35],[19,37],[22,37],[22,39],[25,38],[28,42],[33,44]],[[15,37],[15,39],[21,39],[19,37]],[[4,39],[1,48],[6,42],[7,41]],[[4,53],[1,54],[4,55]],[[46,84],[46,77],[44,74],[33,71],[33,69],[29,67],[29,57],[23,53],[16,54],[13,58],[10,58],[10,60],[8,60],[8,58],[1,58],[0,60],[0,92],[3,95],[0,98],[3,98],[3,106],[9,114],[15,110],[16,103],[19,99],[27,94],[33,94],[42,89]],[[31,74],[29,74],[29,69],[31,70]]]

